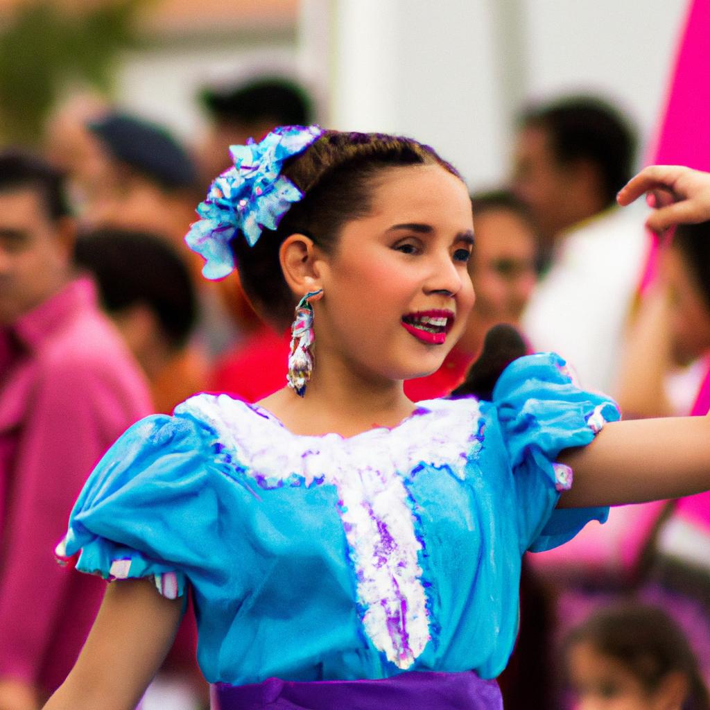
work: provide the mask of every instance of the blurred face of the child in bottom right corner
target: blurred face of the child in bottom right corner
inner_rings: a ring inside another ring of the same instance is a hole
[[[569,653],[569,677],[574,710],[671,710],[665,698],[646,692],[640,681],[616,660],[601,655],[589,643],[577,643]]]

